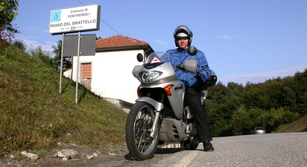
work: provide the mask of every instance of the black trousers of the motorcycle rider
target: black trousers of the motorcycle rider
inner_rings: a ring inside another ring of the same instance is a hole
[[[198,141],[211,141],[212,135],[209,127],[205,108],[200,102],[200,93],[197,88],[186,87],[185,98],[193,115],[194,123],[198,131]]]

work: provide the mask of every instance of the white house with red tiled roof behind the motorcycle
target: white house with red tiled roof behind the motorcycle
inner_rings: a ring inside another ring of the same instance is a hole
[[[79,56],[78,81],[93,93],[130,106],[138,98],[140,82],[133,77],[135,65],[142,65],[136,56],[147,57],[154,52],[147,42],[126,36],[96,37],[95,56]],[[76,81],[77,56],[72,58],[72,70],[64,76]],[[130,106],[131,107],[131,106]]]

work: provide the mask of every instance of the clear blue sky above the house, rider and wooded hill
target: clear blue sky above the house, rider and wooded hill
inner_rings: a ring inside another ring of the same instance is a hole
[[[22,33],[15,37],[52,50],[50,45],[62,36],[48,34],[50,10],[81,3],[101,6],[102,20],[99,31],[81,34],[128,36],[148,42],[154,51],[175,48],[175,28],[187,25],[193,32],[192,46],[204,52],[224,85],[265,82],[307,68],[305,0],[21,0],[13,23]]]

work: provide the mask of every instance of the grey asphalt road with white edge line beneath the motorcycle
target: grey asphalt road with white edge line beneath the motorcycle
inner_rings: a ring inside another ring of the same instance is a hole
[[[115,156],[103,155],[89,161],[41,164],[41,167],[307,167],[307,132],[242,135],[213,138],[213,152],[158,148],[154,157],[135,161],[128,152]]]

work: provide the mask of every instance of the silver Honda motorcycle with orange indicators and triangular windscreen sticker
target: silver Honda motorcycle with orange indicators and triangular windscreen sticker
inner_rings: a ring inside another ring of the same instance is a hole
[[[188,48],[189,55],[196,55],[196,48]],[[137,55],[139,62],[143,55]],[[138,99],[132,106],[126,121],[126,143],[131,156],[138,161],[153,157],[159,143],[181,142],[187,150],[195,150],[199,144],[192,113],[185,101],[185,85],[178,80],[175,71],[184,69],[196,73],[197,61],[185,60],[173,66],[165,52],[151,53],[143,65],[137,65],[132,74],[141,84]],[[213,99],[209,87],[216,83],[212,71],[210,79],[200,83],[201,102]]]

